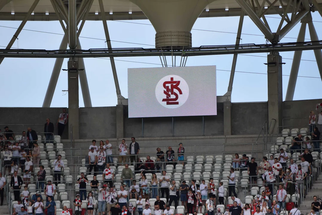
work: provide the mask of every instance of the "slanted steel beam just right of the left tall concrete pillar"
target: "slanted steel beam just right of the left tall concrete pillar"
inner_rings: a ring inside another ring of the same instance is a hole
[[[80,40],[77,38],[77,49],[81,49]],[[85,107],[92,107],[92,101],[90,99],[90,89],[88,87],[88,81],[86,76],[84,58],[78,58],[78,75],[81,83],[81,93],[83,95],[83,101]],[[80,70],[84,69],[84,70]]]

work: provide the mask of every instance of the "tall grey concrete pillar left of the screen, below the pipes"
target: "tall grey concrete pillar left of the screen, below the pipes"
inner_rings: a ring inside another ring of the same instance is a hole
[[[79,139],[78,59],[68,61],[68,131],[69,139]]]

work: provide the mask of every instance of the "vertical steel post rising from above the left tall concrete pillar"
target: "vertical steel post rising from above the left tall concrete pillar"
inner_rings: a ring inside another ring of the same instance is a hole
[[[76,0],[68,1],[69,47],[76,49]]]

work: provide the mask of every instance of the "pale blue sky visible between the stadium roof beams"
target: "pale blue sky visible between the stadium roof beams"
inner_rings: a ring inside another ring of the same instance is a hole
[[[267,17],[272,31],[276,31],[280,19],[270,18],[278,17],[270,15]],[[312,13],[315,28],[319,39],[322,40],[322,18],[315,12]],[[137,22],[150,24],[148,20],[132,20],[127,22],[108,21],[109,34],[111,40],[141,43],[147,45],[155,44],[155,30],[152,25],[135,24],[128,22]],[[216,17],[199,18],[194,24],[192,30],[192,43],[194,47],[201,45],[231,45],[235,43],[236,32],[238,28],[239,17]],[[15,27],[19,26],[18,21],[0,21],[0,26]],[[284,23],[285,25],[285,23]],[[297,38],[300,23],[298,23],[286,37]],[[62,28],[58,21],[51,22],[27,22],[24,29],[35,31],[46,31],[62,34]],[[200,31],[207,30],[207,31]],[[0,46],[7,46],[16,29],[0,27]],[[222,33],[213,31],[225,31],[233,33]],[[245,16],[242,29],[242,44],[265,43],[264,36],[255,24]],[[62,40],[62,35],[42,33],[23,30],[18,36],[13,48],[21,49],[58,49]],[[247,35],[246,35],[247,34]],[[254,34],[254,35],[248,35]],[[98,38],[89,39],[90,38]],[[306,30],[306,39],[309,39],[308,27]],[[86,21],[81,32],[82,49],[104,48],[105,35],[101,21]],[[308,41],[308,40],[306,40]],[[281,42],[296,42],[296,39],[283,38]],[[143,47],[151,48],[153,46],[137,45],[130,43],[112,42],[113,48]],[[4,48],[4,47],[0,47]],[[281,52],[283,57],[283,99],[285,99],[286,89],[289,80],[294,52]],[[259,102],[267,101],[267,62],[266,53],[250,54],[262,57],[238,55],[237,66],[233,90],[232,102]],[[223,95],[227,92],[232,55],[213,55],[189,57],[186,66],[216,65],[217,66],[217,95]],[[122,95],[128,97],[127,87],[127,69],[135,67],[161,67],[159,57],[127,57],[115,58],[118,80]],[[298,77],[294,94],[294,100],[318,99],[322,95],[316,92],[322,92],[321,78],[318,72],[317,64],[313,50],[303,51],[302,59],[310,61],[301,61],[298,76],[311,76],[318,78]],[[145,63],[126,62],[137,61]],[[167,58],[169,63],[171,60]],[[1,107],[41,107],[47,90],[47,85],[52,73],[54,58],[5,58],[0,65],[1,85],[0,92],[6,99],[0,100]],[[115,106],[117,97],[115,85],[110,67],[109,59],[85,58],[85,67],[93,107]],[[154,63],[154,64],[153,64]],[[179,60],[177,59],[179,64]],[[67,59],[64,60],[63,67],[67,68]],[[227,71],[226,71],[227,70]],[[246,73],[245,73],[246,72]],[[253,74],[262,73],[262,74]],[[141,84],[141,83],[138,83]],[[144,84],[144,83],[142,83]],[[68,95],[64,95],[62,90],[67,90],[67,72],[61,71],[55,93],[52,99],[51,107],[68,106]],[[26,98],[23,100],[22,98]],[[84,107],[81,88],[80,88],[80,107]]]

